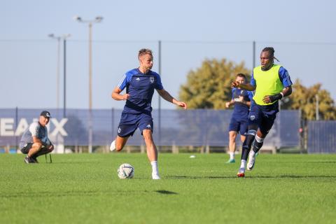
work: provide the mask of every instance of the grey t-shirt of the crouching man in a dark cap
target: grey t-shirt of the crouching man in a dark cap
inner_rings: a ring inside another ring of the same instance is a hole
[[[48,129],[43,127],[38,122],[31,123],[27,130],[22,134],[20,141],[20,148],[23,148],[28,143],[33,142],[33,137],[37,137],[42,141],[42,143],[50,145],[50,140],[48,139]]]

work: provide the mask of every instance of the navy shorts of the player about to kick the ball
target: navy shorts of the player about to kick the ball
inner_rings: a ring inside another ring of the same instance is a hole
[[[151,130],[153,132],[153,118],[146,113],[132,114],[123,111],[118,126],[118,137],[130,137],[139,127],[139,130]]]

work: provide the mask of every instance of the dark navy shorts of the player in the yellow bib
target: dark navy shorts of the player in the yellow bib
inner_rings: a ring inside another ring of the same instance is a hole
[[[261,106],[253,102],[250,113],[248,113],[248,126],[258,125],[262,134],[267,134],[271,130],[276,113],[279,112],[278,102],[270,105]]]

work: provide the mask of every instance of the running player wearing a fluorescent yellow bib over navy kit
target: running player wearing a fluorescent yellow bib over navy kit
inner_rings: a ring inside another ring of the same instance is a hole
[[[276,59],[274,57],[274,49],[264,48],[260,54],[261,66],[253,69],[251,83],[232,83],[232,87],[241,87],[244,90],[250,91],[255,90],[251,110],[248,115],[248,132],[243,144],[238,177],[245,176],[247,158],[247,170],[253,169],[255,165],[255,153],[258,153],[262,147],[267,133],[274,124],[276,113],[279,112],[279,99],[292,93],[292,81],[290,80],[288,71],[283,66],[274,64],[274,59]],[[253,150],[251,151],[252,144]]]

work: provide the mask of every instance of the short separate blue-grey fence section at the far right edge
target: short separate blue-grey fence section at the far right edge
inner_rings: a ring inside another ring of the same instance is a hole
[[[336,153],[336,120],[308,122],[308,153]]]

